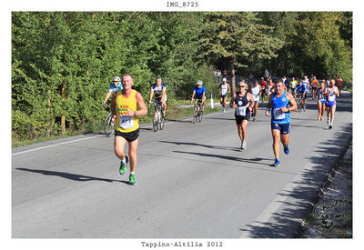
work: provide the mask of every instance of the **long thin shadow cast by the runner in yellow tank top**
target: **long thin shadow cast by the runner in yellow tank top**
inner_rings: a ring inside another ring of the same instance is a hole
[[[56,172],[56,171],[48,171],[48,170],[42,170],[42,169],[28,169],[28,168],[21,168],[21,167],[17,167],[15,169],[21,170],[21,171],[37,173],[37,174],[42,174],[42,175],[59,176],[59,177],[63,177],[63,178],[73,180],[73,181],[78,181],[78,182],[102,181],[102,182],[108,182],[108,183],[119,182],[119,183],[125,183],[125,184],[129,185],[129,182],[126,182],[126,181],[97,178],[97,177],[86,176],[86,175],[76,175],[76,174],[70,174],[70,173],[66,173],[66,172]]]

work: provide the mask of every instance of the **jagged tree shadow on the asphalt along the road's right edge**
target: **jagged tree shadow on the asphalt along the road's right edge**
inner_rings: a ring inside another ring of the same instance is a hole
[[[303,170],[292,190],[282,190],[278,195],[280,207],[268,221],[256,221],[240,228],[249,238],[298,238],[301,219],[318,198],[319,186],[328,178],[329,171],[345,153],[352,138],[352,124],[340,127],[329,141],[317,147],[320,156],[308,158],[310,168]],[[339,155],[339,156],[338,156]]]

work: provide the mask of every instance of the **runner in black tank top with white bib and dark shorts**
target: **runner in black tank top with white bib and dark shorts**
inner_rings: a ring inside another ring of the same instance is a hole
[[[248,93],[248,85],[244,81],[238,83],[238,92],[233,93],[230,106],[235,108],[235,121],[238,126],[238,136],[241,140],[240,148],[247,149],[247,125],[250,111],[253,110],[254,99]]]

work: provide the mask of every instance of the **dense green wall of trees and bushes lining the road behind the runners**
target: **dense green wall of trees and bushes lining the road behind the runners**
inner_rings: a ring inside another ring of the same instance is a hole
[[[168,100],[198,79],[216,94],[229,75],[310,75],[351,81],[351,13],[14,12],[12,136],[57,135],[100,123],[113,75],[146,97],[156,76]]]

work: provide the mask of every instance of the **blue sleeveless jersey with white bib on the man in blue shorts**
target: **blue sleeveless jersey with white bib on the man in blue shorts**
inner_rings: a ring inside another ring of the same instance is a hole
[[[289,112],[281,112],[281,107],[288,107],[289,101],[287,97],[287,91],[283,92],[283,95],[278,97],[277,93],[273,93],[272,98],[272,119],[271,123],[273,124],[288,124],[290,123],[290,113]]]

